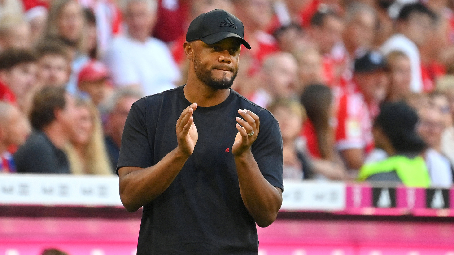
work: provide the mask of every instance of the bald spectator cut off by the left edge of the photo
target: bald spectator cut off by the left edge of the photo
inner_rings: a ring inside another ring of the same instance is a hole
[[[0,101],[0,172],[16,172],[11,146],[22,145],[29,133],[28,125],[19,109]]]

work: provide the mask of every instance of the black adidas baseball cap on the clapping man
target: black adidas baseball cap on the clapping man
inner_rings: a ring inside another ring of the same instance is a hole
[[[247,49],[251,49],[243,36],[244,26],[241,20],[225,10],[216,9],[202,13],[191,21],[186,41],[202,40],[206,44],[215,44],[229,37],[237,37]]]

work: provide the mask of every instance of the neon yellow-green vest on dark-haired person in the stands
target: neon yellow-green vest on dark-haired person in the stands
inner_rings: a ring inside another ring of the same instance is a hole
[[[365,181],[375,174],[392,171],[396,172],[405,186],[424,188],[430,186],[429,172],[421,156],[408,158],[396,155],[384,161],[366,164],[361,167],[358,179]]]

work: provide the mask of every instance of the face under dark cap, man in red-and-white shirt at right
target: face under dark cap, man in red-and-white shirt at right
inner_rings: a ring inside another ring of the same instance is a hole
[[[384,70],[356,73],[355,80],[360,86],[366,101],[381,102],[385,99],[389,80]]]

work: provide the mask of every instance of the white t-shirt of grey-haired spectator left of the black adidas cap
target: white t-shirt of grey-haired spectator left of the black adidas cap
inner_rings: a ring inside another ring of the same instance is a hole
[[[147,95],[175,88],[181,75],[167,45],[152,37],[145,43],[126,35],[115,38],[104,62],[117,86],[139,84]]]

